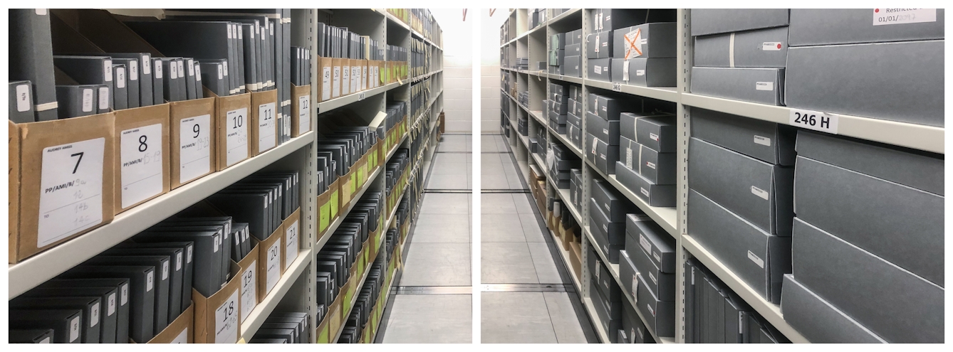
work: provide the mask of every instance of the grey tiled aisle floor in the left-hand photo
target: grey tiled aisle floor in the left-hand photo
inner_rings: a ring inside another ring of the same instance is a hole
[[[470,135],[444,134],[377,342],[470,343]]]

